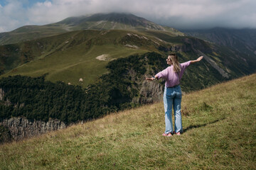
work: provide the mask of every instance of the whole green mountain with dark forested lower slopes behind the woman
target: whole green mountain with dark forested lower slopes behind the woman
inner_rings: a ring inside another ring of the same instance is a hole
[[[68,126],[159,102],[164,81],[145,78],[165,69],[171,52],[179,62],[205,58],[186,70],[183,94],[256,72],[252,51],[117,13],[24,26],[1,33],[0,42],[1,121],[54,118]]]

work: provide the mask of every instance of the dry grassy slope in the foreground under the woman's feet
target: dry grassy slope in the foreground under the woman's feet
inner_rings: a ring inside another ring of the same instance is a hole
[[[1,145],[1,169],[256,169],[255,82],[252,74],[183,96],[181,136],[161,136],[155,103]]]

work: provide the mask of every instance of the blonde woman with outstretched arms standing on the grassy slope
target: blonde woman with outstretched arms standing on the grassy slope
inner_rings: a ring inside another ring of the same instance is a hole
[[[181,135],[182,123],[181,123],[181,86],[180,81],[183,73],[190,64],[199,62],[203,59],[203,56],[198,57],[197,60],[191,60],[188,62],[179,63],[178,57],[175,54],[168,56],[166,62],[170,65],[163,71],[156,74],[154,77],[146,78],[147,80],[165,79],[164,87],[164,112],[165,112],[165,124],[166,130],[163,136],[170,137],[172,134]],[[174,130],[171,120],[172,107],[174,106]]]

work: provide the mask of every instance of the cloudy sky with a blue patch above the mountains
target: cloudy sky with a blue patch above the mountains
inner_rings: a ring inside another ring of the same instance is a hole
[[[0,0],[0,33],[110,12],[177,29],[256,28],[256,0]]]

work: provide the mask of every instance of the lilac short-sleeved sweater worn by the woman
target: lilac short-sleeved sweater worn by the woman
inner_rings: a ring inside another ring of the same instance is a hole
[[[156,74],[156,77],[159,79],[165,79],[166,87],[176,86],[180,84],[181,77],[183,76],[186,67],[188,67],[190,64],[191,61],[181,63],[181,72],[174,72],[174,65],[171,65],[170,67],[167,67],[163,71]]]

